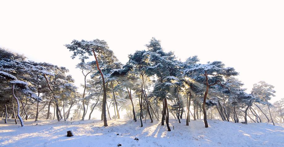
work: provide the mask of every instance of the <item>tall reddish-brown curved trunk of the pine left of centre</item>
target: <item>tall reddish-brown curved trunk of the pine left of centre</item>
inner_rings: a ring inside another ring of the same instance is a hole
[[[94,50],[92,50],[93,53],[94,53],[94,57],[96,59],[96,65],[97,65],[97,68],[98,68],[98,71],[100,72],[101,74],[101,77],[102,77],[102,87],[103,87],[103,98],[102,98],[102,113],[103,113],[103,124],[104,126],[107,126],[107,120],[106,120],[106,84],[105,84],[105,78],[103,77],[103,73],[102,73],[102,70],[101,68],[99,67],[98,65],[98,58],[96,56],[96,53]]]

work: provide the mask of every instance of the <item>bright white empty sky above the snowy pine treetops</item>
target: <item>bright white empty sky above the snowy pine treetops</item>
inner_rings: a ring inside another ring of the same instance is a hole
[[[64,44],[104,39],[118,59],[145,49],[152,37],[166,51],[236,68],[248,92],[261,80],[284,97],[284,1],[1,1],[0,45],[29,60],[65,66],[83,77]]]

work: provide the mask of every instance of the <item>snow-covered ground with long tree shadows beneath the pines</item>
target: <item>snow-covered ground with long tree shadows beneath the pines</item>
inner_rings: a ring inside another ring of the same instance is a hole
[[[267,123],[241,123],[208,120],[209,128],[204,128],[203,120],[191,120],[190,126],[185,119],[178,123],[170,119],[172,131],[168,132],[161,122],[148,120],[140,127],[139,120],[108,120],[107,127],[99,120],[25,121],[25,126],[15,125],[13,119],[0,123],[0,146],[9,147],[115,147],[124,146],[273,146],[284,145],[284,124],[273,126]],[[144,122],[144,120],[143,120]],[[174,126],[174,130],[173,130]],[[73,137],[65,137],[68,130]],[[117,135],[118,134],[118,135]],[[136,141],[134,138],[138,138]]]

